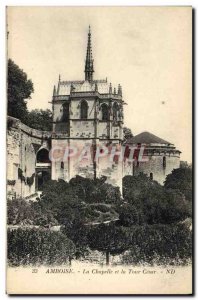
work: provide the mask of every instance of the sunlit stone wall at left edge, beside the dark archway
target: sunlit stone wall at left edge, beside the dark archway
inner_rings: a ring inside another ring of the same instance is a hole
[[[50,133],[32,129],[8,117],[7,196],[25,198],[35,193],[36,154]]]

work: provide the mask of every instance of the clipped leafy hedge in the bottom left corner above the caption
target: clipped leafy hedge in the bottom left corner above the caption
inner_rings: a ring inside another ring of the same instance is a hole
[[[64,234],[50,230],[8,230],[8,263],[19,265],[65,264],[75,253],[75,246]]]

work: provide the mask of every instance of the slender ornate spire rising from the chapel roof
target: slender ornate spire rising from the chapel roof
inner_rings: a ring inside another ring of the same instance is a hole
[[[89,25],[87,54],[86,54],[86,61],[85,61],[85,80],[92,81],[93,72],[94,72],[94,68],[93,68],[93,58],[92,58],[92,50],[91,50],[91,28]]]

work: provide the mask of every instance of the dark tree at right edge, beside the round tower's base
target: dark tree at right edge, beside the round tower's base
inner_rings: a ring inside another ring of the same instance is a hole
[[[166,176],[164,186],[166,189],[179,190],[188,201],[192,201],[192,169],[190,167],[174,169]]]

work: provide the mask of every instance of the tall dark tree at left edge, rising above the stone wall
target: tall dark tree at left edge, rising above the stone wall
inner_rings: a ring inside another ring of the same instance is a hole
[[[26,100],[34,92],[33,83],[11,59],[8,60],[7,76],[8,115],[25,122],[28,114]]]

